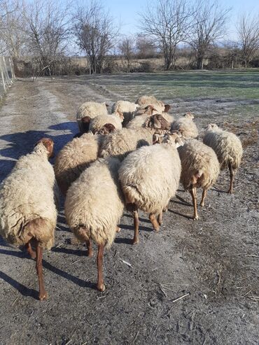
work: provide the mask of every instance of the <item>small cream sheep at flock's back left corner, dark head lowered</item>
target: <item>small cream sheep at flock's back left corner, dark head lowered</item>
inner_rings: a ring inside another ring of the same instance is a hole
[[[83,132],[82,118],[89,116],[90,118],[95,118],[97,115],[108,115],[107,110],[108,104],[97,103],[94,101],[87,101],[83,103],[76,113],[76,120],[78,121],[79,131]]]

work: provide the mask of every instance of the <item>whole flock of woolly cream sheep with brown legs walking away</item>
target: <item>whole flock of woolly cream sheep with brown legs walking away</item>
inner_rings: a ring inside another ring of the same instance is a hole
[[[139,242],[138,210],[149,214],[155,231],[162,212],[176,194],[179,182],[193,198],[197,188],[202,201],[216,182],[220,169],[230,169],[232,193],[241,162],[241,142],[230,132],[211,124],[203,143],[193,115],[174,120],[169,106],[155,97],[140,97],[133,104],[118,101],[112,114],[106,104],[85,102],[76,118],[80,133],[59,151],[54,169],[52,139],[43,138],[32,153],[20,157],[0,186],[0,234],[10,244],[24,245],[36,258],[39,300],[47,293],[43,283],[43,248],[51,248],[57,223],[58,190],[65,197],[64,213],[73,234],[87,246],[98,245],[97,288],[105,290],[102,263],[104,247],[113,244],[123,210],[132,211],[133,244]],[[56,183],[57,182],[57,183]],[[58,185],[58,187],[57,187]]]

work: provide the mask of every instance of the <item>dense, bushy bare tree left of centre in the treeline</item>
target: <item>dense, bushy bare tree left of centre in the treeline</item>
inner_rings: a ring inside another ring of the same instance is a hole
[[[89,61],[92,73],[102,73],[109,52],[118,37],[113,18],[104,10],[99,1],[79,7],[75,15],[74,34],[76,42]]]

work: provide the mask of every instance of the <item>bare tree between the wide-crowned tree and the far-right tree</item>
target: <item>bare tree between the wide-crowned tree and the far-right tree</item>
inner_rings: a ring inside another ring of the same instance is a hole
[[[229,12],[230,8],[221,8],[218,0],[197,0],[195,3],[193,27],[187,41],[195,50],[197,69],[203,69],[209,48],[224,36]]]

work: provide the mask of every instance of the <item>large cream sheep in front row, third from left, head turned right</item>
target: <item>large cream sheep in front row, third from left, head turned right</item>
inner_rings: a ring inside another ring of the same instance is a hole
[[[132,244],[139,243],[138,209],[149,213],[153,228],[158,231],[162,225],[162,211],[179,186],[181,161],[176,148],[183,141],[177,134],[170,134],[164,142],[130,153],[119,169],[126,208],[133,212],[134,217]]]

